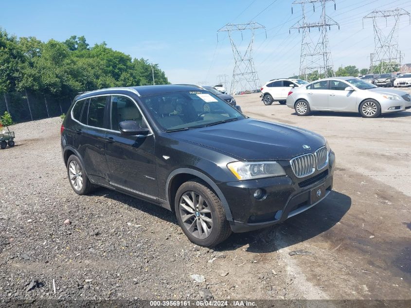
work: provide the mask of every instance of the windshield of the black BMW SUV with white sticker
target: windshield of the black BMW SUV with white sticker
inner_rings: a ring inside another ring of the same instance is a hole
[[[141,98],[164,131],[206,127],[245,119],[237,109],[209,91],[181,91]]]

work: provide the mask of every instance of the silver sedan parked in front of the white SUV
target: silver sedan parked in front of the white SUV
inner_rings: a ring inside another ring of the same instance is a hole
[[[344,111],[375,118],[381,113],[410,109],[411,98],[407,92],[378,88],[355,77],[333,77],[291,89],[287,106],[295,109],[297,115],[307,115],[310,111]]]

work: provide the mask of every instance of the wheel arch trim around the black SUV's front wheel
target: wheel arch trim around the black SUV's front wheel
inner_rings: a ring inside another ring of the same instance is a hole
[[[170,208],[172,211],[174,211],[174,199],[176,198],[176,193],[177,190],[179,189],[180,185],[188,180],[191,179],[200,179],[202,181],[205,181],[210,188],[214,191],[214,193],[217,195],[217,197],[221,201],[221,205],[224,208],[226,218],[229,221],[232,221],[232,214],[230,207],[228,206],[227,200],[224,197],[222,191],[218,188],[218,186],[214,183],[212,179],[210,179],[207,175],[204,173],[191,169],[191,168],[179,168],[170,173],[170,175],[167,178],[166,184],[165,184],[165,196],[167,198],[167,203],[170,205]]]

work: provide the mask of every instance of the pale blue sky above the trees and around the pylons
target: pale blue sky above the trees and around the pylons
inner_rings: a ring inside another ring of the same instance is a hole
[[[270,5],[274,2],[272,5]],[[288,29],[301,18],[301,8],[292,0],[2,0],[0,27],[17,36],[36,36],[65,40],[71,35],[86,36],[90,45],[106,41],[108,47],[159,63],[172,83],[207,82],[216,76],[231,79],[233,56],[225,33],[216,31],[227,23],[259,22],[267,28],[257,31],[254,63],[261,83],[288,77],[299,71],[301,34]],[[327,5],[327,15],[340,23],[340,30],[329,32],[329,44],[335,69],[340,65],[369,66],[374,50],[374,32],[370,20],[362,29],[362,17],[374,9],[402,7],[411,11],[409,0],[336,0]],[[270,6],[269,6],[270,5]],[[268,7],[268,8],[267,8]],[[312,21],[320,7],[307,16]],[[388,25],[392,22],[389,20]],[[384,24],[384,29],[385,24]],[[411,26],[408,17],[399,22],[399,46],[405,61],[411,62]],[[248,44],[249,34],[240,50]]]

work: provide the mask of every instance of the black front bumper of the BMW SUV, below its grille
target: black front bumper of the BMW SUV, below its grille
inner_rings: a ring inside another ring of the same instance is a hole
[[[335,168],[332,151],[326,168],[302,179],[294,177],[288,162],[284,162],[283,167],[287,173],[284,177],[217,184],[232,212],[230,225],[233,232],[247,232],[280,223],[316,205],[332,190]],[[311,202],[311,190],[322,184],[325,185],[324,197]],[[255,199],[256,189],[262,189],[265,198]]]

